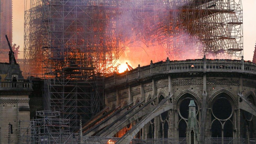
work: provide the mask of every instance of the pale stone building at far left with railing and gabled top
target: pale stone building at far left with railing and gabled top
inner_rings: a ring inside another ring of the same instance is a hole
[[[13,55],[10,58],[10,63],[0,63],[0,143],[19,143],[19,121],[30,119],[32,83],[24,80]]]

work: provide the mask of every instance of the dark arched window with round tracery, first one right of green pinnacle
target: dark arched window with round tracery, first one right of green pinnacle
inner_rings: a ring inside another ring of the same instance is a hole
[[[211,106],[211,137],[233,137],[233,103],[226,93],[218,94]]]

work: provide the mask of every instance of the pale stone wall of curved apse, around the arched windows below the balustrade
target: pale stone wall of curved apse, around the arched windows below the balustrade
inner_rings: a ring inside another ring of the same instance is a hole
[[[238,109],[239,96],[237,95],[242,89],[243,94],[250,92],[255,97],[255,79],[241,78],[241,77],[222,77],[220,76],[208,76],[206,77],[206,93],[207,93],[207,113],[205,122],[205,137],[211,137],[211,99],[220,93],[226,93],[235,100],[232,104],[233,107],[233,137],[240,137],[240,131],[242,129],[242,123],[240,122],[240,110]],[[164,74],[163,74],[164,75]],[[168,75],[163,77],[153,77],[150,80],[144,82],[136,82],[130,85],[131,87],[131,97],[133,103],[145,99],[146,101],[149,97],[163,95],[166,97],[169,92],[173,93],[173,109],[169,111],[168,118],[168,137],[179,137],[179,105],[178,103],[182,100],[180,97],[185,93],[193,95],[195,101],[199,104],[199,113],[201,113],[202,106],[202,94],[204,92],[204,77],[197,74],[193,77],[178,77],[175,75],[169,75],[171,78],[168,81]],[[243,85],[239,84],[242,80]],[[153,82],[154,81],[154,82]],[[171,82],[171,89],[168,88],[168,84]],[[155,83],[155,84],[153,84]],[[153,86],[155,85],[155,86]],[[153,89],[156,92],[153,92]],[[141,94],[141,89],[143,93]],[[113,92],[115,91],[115,92]],[[129,102],[129,84],[122,85],[121,88],[112,87],[111,89],[106,89],[106,96],[108,98],[107,106],[112,107],[113,104],[123,106],[125,102]],[[111,100],[110,100],[111,99]],[[120,99],[118,103],[116,99]],[[241,116],[240,116],[241,117]],[[199,116],[199,122],[201,117]],[[155,118],[155,124],[159,123],[159,116]],[[159,127],[155,126],[155,138],[160,138]],[[148,134],[147,126],[143,128],[143,138],[146,138]]]

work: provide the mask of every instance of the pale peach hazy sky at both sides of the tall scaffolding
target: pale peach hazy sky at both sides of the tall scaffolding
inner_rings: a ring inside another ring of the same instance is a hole
[[[8,0],[7,0],[8,1]],[[25,0],[26,1],[26,0]],[[252,60],[256,42],[256,0],[242,0],[244,60]],[[24,47],[24,0],[13,0],[13,44]]]

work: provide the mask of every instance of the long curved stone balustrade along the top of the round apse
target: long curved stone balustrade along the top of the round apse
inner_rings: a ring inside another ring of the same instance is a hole
[[[226,59],[195,59],[183,61],[170,61],[167,57],[165,62],[150,63],[123,73],[115,73],[105,80],[105,87],[113,84],[124,83],[132,79],[138,79],[159,73],[178,72],[247,72],[256,74],[256,64],[250,61],[226,60]]]

